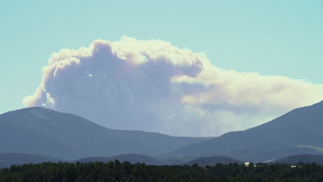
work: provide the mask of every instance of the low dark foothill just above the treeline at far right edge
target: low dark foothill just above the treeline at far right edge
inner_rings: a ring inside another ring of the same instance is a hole
[[[272,163],[288,163],[291,165],[297,165],[298,163],[317,163],[323,165],[323,156],[322,155],[313,155],[313,154],[302,154],[302,155],[293,155],[286,156],[283,159],[273,161]]]

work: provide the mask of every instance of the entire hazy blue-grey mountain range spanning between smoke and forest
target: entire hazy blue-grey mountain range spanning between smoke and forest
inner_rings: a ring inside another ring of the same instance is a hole
[[[108,161],[117,156],[112,158],[154,165],[184,164],[214,156],[271,162],[290,155],[322,155],[322,131],[323,101],[218,137],[112,130],[74,114],[33,107],[0,115],[0,153],[37,154],[66,161]]]

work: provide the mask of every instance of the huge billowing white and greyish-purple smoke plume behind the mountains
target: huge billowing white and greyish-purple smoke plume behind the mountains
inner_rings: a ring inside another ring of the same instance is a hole
[[[123,37],[52,54],[42,83],[23,103],[108,128],[217,136],[322,98],[322,85],[223,70],[165,41]]]

